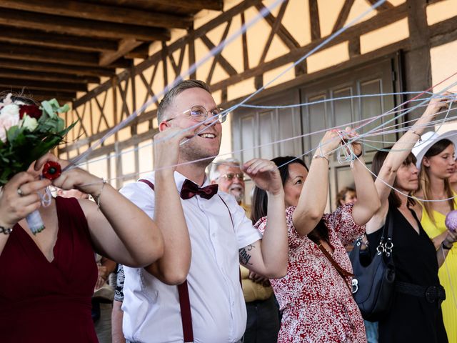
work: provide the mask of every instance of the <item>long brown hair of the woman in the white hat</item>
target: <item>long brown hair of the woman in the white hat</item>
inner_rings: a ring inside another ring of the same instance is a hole
[[[452,141],[449,139],[441,139],[433,144],[427,151],[424,157],[430,158],[441,154],[448,146],[453,144]],[[432,199],[431,195],[431,186],[430,186],[430,168],[428,166],[423,165],[423,159],[421,161],[421,172],[419,172],[419,182],[421,183],[421,189],[423,192],[423,199]],[[444,179],[444,191],[448,197],[448,205],[451,211],[455,209],[454,207],[454,199],[453,199],[453,192],[451,188],[451,183],[449,179]],[[435,223],[435,217],[433,216],[433,207],[431,202],[423,202],[423,207],[425,207],[428,217],[431,218],[431,221]]]

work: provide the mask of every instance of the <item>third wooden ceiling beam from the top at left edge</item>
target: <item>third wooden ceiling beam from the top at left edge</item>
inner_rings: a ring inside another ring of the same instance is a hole
[[[29,29],[16,28],[11,30],[9,26],[0,26],[0,41],[76,51],[116,51],[118,48],[117,41],[71,36],[69,34],[47,34]]]

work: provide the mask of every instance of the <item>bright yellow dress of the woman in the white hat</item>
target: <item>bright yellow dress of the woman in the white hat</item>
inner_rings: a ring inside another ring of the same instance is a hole
[[[454,202],[457,209],[457,201],[454,200]],[[435,224],[433,224],[425,208],[422,207],[421,224],[424,231],[431,239],[447,230],[446,225],[444,224],[446,219],[445,215],[433,211],[433,217],[435,218]],[[446,289],[446,300],[441,305],[441,308],[443,309],[443,321],[448,334],[448,341],[457,342],[457,307],[454,300],[454,297],[457,299],[457,244],[454,244],[453,248],[448,253],[446,262],[438,271],[438,277],[440,278],[441,285]],[[449,282],[449,279],[451,279],[451,282]]]

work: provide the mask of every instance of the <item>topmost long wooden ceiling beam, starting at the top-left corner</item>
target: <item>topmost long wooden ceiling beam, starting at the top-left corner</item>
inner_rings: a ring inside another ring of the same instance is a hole
[[[1,0],[0,7],[54,16],[93,19],[118,24],[166,27],[169,29],[187,29],[193,20],[191,16],[157,13],[124,6],[86,4],[85,2],[74,0]]]

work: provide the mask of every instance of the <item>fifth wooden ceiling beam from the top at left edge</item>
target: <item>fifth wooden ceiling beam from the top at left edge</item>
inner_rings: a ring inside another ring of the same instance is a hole
[[[15,59],[0,59],[0,67],[13,68],[31,71],[49,71],[63,74],[80,75],[80,76],[114,76],[115,69],[89,67],[89,66],[66,66],[64,64],[51,64],[36,61],[19,61]]]

